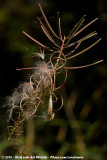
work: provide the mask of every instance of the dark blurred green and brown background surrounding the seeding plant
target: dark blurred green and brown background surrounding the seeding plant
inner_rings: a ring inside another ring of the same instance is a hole
[[[0,156],[17,155],[7,140],[7,99],[20,82],[28,81],[30,71],[19,72],[16,69],[33,67],[35,64],[31,54],[39,52],[39,47],[23,35],[22,31],[43,43],[48,43],[37,21],[37,16],[43,18],[38,2],[41,3],[55,31],[59,12],[62,32],[65,35],[84,14],[85,24],[99,17],[95,24],[87,28],[87,33],[96,30],[98,36],[94,39],[101,37],[102,41],[80,58],[72,60],[72,66],[89,64],[100,59],[104,59],[104,62],[89,68],[68,71],[67,81],[60,89],[64,99],[63,108],[55,113],[52,121],[34,119],[33,154],[83,156],[85,160],[106,160],[106,0],[0,0]],[[87,44],[88,41],[82,48]],[[63,75],[58,78],[58,83],[62,79]]]

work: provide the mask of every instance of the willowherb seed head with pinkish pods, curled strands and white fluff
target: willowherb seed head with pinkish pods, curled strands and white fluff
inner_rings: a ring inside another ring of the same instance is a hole
[[[21,84],[15,90],[10,103],[9,119],[11,119],[13,123],[12,126],[8,127],[8,140],[11,141],[13,147],[16,148],[17,151],[22,155],[24,155],[23,148],[18,147],[19,143],[17,144],[16,137],[20,136],[23,133],[23,123],[33,116],[38,116],[37,111],[39,110],[43,110],[44,115],[42,117],[45,120],[52,120],[54,118],[53,112],[59,110],[63,106],[63,98],[58,89],[63,86],[67,79],[67,70],[89,67],[103,61],[100,60],[92,64],[87,64],[85,66],[67,66],[68,60],[73,59],[74,57],[77,57],[80,54],[86,52],[101,40],[100,38],[82,51],[76,52],[77,48],[83,41],[92,38],[93,36],[97,35],[97,33],[96,31],[93,31],[76,41],[74,41],[74,38],[77,37],[88,26],[94,23],[98,18],[92,20],[90,23],[82,27],[85,20],[84,15],[66,37],[63,36],[61,32],[60,18],[58,19],[59,35],[57,35],[48,22],[48,19],[46,18],[40,4],[39,8],[41,10],[45,23],[43,23],[43,21],[39,17],[37,17],[37,19],[40,22],[41,29],[43,30],[44,34],[52,43],[52,46],[49,47],[45,44],[42,44],[23,31],[23,33],[27,37],[29,37],[41,47],[40,53],[36,53],[35,56],[39,56],[42,59],[42,63],[37,67],[17,69],[19,71],[32,69],[34,71],[29,78],[29,82]],[[48,51],[47,54],[45,54],[45,50]],[[66,50],[70,51],[66,52]],[[63,70],[65,70],[64,81],[62,82],[62,84],[60,84],[60,86],[56,87],[56,76]],[[46,103],[47,99],[48,103]],[[59,108],[54,109],[54,103],[57,103],[59,100]]]

